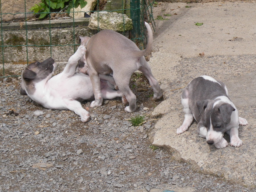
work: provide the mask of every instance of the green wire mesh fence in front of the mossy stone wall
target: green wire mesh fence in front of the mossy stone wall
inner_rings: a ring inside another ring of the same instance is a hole
[[[19,0],[17,3],[19,2],[24,5],[24,11],[6,13],[2,12],[2,8],[8,2],[0,0],[0,78],[20,75],[6,70],[7,65],[12,68],[15,64],[28,64],[49,57],[67,61],[79,46],[79,36],[92,36],[98,32],[98,30],[88,28],[89,18],[75,18],[75,14],[80,12],[84,16],[90,15],[91,12],[101,11],[126,14],[132,19],[133,25],[128,36],[140,49],[144,48],[146,42],[143,21],[152,23],[154,28],[152,16],[154,0],[151,2],[150,0],[111,0],[108,2],[97,0],[96,7],[92,11],[76,11],[71,8],[69,12],[65,9],[54,12],[56,10],[49,7],[49,11],[45,12],[48,19],[44,20],[38,20],[42,13],[28,12],[30,7],[26,6],[26,0],[24,2]],[[72,7],[74,7],[74,2]],[[27,18],[32,14],[36,15],[36,18]],[[17,20],[15,19],[17,15],[22,15],[24,18]],[[14,19],[6,21],[7,16],[12,16]],[[52,20],[57,16],[61,17]],[[16,20],[17,22],[14,22]],[[126,32],[122,34],[127,36]]]

